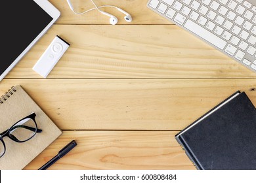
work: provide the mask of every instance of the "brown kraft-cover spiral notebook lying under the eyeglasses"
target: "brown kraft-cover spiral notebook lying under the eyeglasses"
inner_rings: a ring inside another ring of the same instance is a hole
[[[37,127],[42,129],[42,132],[36,133],[32,139],[22,143],[4,137],[6,152],[0,158],[1,170],[23,169],[62,134],[62,131],[20,85],[12,86],[0,97],[0,133],[32,112],[35,112]]]

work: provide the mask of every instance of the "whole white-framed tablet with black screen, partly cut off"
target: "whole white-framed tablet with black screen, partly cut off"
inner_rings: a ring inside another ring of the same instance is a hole
[[[0,80],[20,61],[60,16],[47,0],[1,2]]]

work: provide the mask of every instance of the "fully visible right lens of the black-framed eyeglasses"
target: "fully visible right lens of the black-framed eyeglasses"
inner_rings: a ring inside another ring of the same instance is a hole
[[[13,125],[10,129],[10,136],[12,139],[18,141],[27,141],[36,133],[35,122],[31,118],[21,120]]]

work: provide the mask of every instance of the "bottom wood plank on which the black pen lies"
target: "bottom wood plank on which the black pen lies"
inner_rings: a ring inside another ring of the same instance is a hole
[[[64,131],[25,167],[39,169],[68,142],[77,146],[49,169],[195,169],[177,131]]]

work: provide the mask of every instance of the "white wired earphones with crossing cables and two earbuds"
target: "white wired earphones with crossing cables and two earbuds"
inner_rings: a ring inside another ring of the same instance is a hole
[[[114,15],[108,13],[108,12],[104,12],[104,11],[100,10],[100,8],[104,8],[104,7],[116,8],[117,10],[119,10],[119,12],[122,12],[123,14],[125,14],[124,19],[125,19],[126,22],[131,22],[131,21],[133,20],[133,18],[131,18],[131,15],[130,15],[129,13],[127,13],[125,10],[123,10],[123,9],[121,9],[121,8],[118,8],[118,7],[115,7],[115,6],[112,6],[112,5],[104,5],[104,6],[97,7],[97,6],[95,5],[95,2],[93,2],[93,0],[91,0],[91,2],[93,3],[93,5],[95,5],[95,8],[91,8],[91,9],[86,10],[86,11],[84,11],[84,12],[79,12],[79,13],[77,13],[77,12],[75,12],[74,7],[72,6],[72,3],[70,2],[70,0],[67,0],[67,2],[68,2],[68,5],[69,5],[70,9],[71,9],[75,14],[85,14],[86,12],[89,12],[89,11],[91,11],[91,10],[98,10],[98,12],[100,12],[100,13],[102,13],[102,14],[104,14],[104,15],[110,17],[110,24],[112,24],[112,25],[116,25],[117,22],[118,22],[118,19],[116,18],[116,16],[114,16]]]

